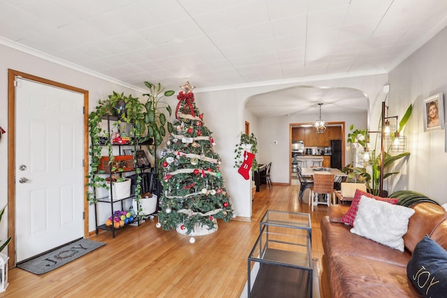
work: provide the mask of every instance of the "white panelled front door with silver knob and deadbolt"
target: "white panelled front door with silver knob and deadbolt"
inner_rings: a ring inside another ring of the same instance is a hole
[[[84,95],[16,78],[15,248],[26,260],[84,233]]]

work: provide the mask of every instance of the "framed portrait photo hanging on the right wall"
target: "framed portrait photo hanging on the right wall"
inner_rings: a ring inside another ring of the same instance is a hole
[[[424,131],[444,129],[444,99],[441,93],[423,100]]]

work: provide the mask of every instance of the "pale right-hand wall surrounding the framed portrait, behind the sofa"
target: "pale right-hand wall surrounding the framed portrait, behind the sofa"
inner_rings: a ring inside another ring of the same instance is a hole
[[[402,116],[413,103],[413,114],[404,131],[411,156],[400,181],[395,181],[394,190],[419,191],[440,204],[447,203],[445,131],[424,132],[422,100],[438,93],[444,94],[445,99],[446,78],[447,29],[444,29],[390,72],[387,104],[389,115]]]

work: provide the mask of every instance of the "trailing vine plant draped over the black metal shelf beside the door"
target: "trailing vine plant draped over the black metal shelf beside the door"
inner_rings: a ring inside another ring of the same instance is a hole
[[[117,111],[117,107],[125,107],[124,111]],[[98,174],[101,173],[99,165],[101,162],[101,151],[103,144],[108,151],[109,165],[111,172],[123,172],[124,169],[119,167],[119,163],[114,163],[115,156],[113,155],[112,144],[110,142],[110,131],[101,127],[101,121],[104,117],[115,117],[116,121],[112,123],[112,130],[117,128],[119,131],[124,131],[126,126],[130,127],[131,145],[142,136],[146,131],[145,124],[145,105],[140,103],[138,98],[131,95],[124,96],[124,93],[117,93],[113,91],[106,100],[99,100],[95,110],[89,114],[89,136],[91,138],[91,144],[89,147],[90,156],[90,170],[87,175],[87,186],[91,188],[107,188],[110,186],[104,177]],[[108,142],[103,142],[101,138],[106,138]],[[135,155],[133,156],[133,163],[136,164]],[[140,197],[140,169],[136,168],[137,173],[137,186],[135,188],[136,200]],[[96,194],[94,192],[87,191],[87,200],[94,204],[96,202]]]

